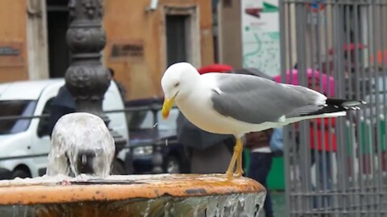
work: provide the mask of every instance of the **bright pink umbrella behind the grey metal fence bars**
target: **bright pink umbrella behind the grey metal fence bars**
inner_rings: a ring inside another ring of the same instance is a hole
[[[292,82],[290,81],[291,74],[293,75]],[[313,78],[312,69],[307,70],[307,78],[308,78],[308,88],[313,89],[313,84],[311,83],[312,78]],[[334,78],[332,76],[327,76],[326,74],[323,74],[317,70],[314,70],[314,79],[315,79],[315,84],[316,84],[315,86],[317,88],[317,91],[321,92],[325,95],[328,94],[328,80],[329,80],[329,89],[330,89],[330,96],[329,97],[334,96],[334,94],[335,94],[335,82],[334,82]],[[320,79],[322,80],[322,88],[323,88],[322,91],[319,90],[319,88],[320,88],[319,80]],[[281,75],[274,76],[274,81],[281,82]],[[291,70],[291,72],[290,72],[290,70],[286,71],[286,81],[283,83],[290,84],[290,82],[293,85],[298,85],[298,71],[296,69]]]

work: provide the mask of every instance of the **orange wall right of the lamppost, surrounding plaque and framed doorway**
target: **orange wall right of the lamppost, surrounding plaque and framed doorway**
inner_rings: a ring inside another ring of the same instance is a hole
[[[105,0],[104,29],[107,44],[104,50],[106,66],[115,70],[115,77],[127,89],[127,98],[162,96],[161,76],[165,70],[160,56],[162,49],[164,5],[198,5],[200,23],[201,64],[214,61],[212,12],[209,0],[160,0],[158,9],[146,12],[150,0]],[[111,59],[110,51],[116,41],[139,42],[144,46],[142,59]]]

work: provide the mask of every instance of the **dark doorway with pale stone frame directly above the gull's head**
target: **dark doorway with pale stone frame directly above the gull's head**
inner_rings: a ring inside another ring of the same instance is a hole
[[[167,65],[187,61],[187,15],[166,15]]]

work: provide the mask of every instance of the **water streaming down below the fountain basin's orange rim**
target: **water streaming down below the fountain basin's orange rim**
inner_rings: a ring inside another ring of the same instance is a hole
[[[241,202],[241,200],[243,202]],[[265,200],[265,192],[212,195],[206,197],[159,197],[156,199],[92,202],[89,209],[103,206],[107,210],[125,210],[128,216],[142,217],[258,217]],[[80,209],[87,202],[64,204],[0,206],[0,216],[38,217],[37,213],[53,213]],[[75,208],[76,207],[76,208]],[[37,212],[38,211],[38,212]],[[111,211],[110,211],[111,212]],[[106,213],[103,213],[106,214]],[[94,216],[94,215],[92,215]]]

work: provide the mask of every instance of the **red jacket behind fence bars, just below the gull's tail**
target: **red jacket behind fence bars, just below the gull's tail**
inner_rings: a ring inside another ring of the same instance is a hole
[[[324,139],[325,139],[325,151],[336,151],[337,144],[336,144],[336,134],[334,132],[329,133],[329,118],[324,119],[316,119],[317,122],[317,150],[323,151],[322,148],[322,129],[321,129],[321,121],[324,120]],[[334,129],[335,127],[335,119],[332,118],[332,125],[331,129]],[[310,122],[310,148],[315,149],[315,124],[313,123],[313,120]],[[332,144],[330,144],[329,135],[332,136]],[[332,147],[332,149],[331,149]]]

